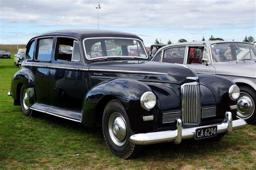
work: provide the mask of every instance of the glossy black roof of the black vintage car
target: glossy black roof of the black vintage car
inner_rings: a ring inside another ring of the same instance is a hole
[[[44,32],[37,37],[42,37],[42,36],[71,36],[79,39],[93,38],[93,37],[122,37],[122,38],[135,38],[135,39],[142,40],[139,36],[134,35],[132,33],[127,33],[127,32],[110,31],[110,30],[87,30],[87,29],[56,30],[56,31]]]

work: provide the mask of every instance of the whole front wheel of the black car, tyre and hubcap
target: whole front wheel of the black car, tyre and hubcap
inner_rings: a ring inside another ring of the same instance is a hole
[[[126,111],[119,100],[111,100],[106,105],[102,128],[107,147],[118,157],[132,158],[141,151],[142,146],[130,142],[133,132]]]

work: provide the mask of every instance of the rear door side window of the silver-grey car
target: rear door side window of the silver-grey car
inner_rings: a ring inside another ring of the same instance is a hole
[[[164,51],[163,62],[183,64],[185,58],[185,46],[171,47]]]

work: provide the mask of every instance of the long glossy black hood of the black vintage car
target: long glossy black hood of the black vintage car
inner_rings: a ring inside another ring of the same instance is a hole
[[[143,81],[183,84],[195,81],[187,77],[198,77],[197,73],[185,65],[149,61],[112,61],[92,63],[89,66],[94,77],[126,77]]]

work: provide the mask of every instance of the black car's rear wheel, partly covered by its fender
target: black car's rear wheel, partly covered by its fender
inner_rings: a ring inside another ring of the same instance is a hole
[[[30,106],[28,106],[28,99],[29,99],[29,94],[26,93],[26,87],[22,85],[21,95],[20,95],[22,112],[24,113],[25,116],[31,117],[32,110],[30,109]]]

